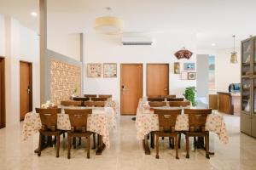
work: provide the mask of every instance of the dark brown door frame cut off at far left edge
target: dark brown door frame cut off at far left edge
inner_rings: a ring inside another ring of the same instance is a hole
[[[3,62],[3,81],[0,80],[1,82],[1,94],[2,94],[2,100],[1,100],[1,103],[2,103],[2,108],[0,108],[2,111],[1,111],[1,120],[2,120],[2,123],[3,123],[3,126],[0,127],[0,128],[3,128],[3,127],[6,127],[6,110],[5,110],[5,58],[0,56],[0,59],[2,60]]]

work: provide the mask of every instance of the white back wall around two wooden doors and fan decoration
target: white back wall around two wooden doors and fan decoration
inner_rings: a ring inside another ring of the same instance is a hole
[[[195,81],[181,80],[173,74],[173,63],[196,62],[196,54],[189,60],[176,59],[173,55],[180,48],[195,51],[195,35],[186,32],[154,33],[153,46],[123,46],[120,37],[96,33],[84,35],[84,63],[118,63],[117,78],[84,77],[84,94],[113,94],[119,100],[120,63],[143,63],[143,95],[146,95],[146,64],[170,64],[170,94],[182,96],[184,88],[195,86]],[[85,67],[86,68],[86,67]]]

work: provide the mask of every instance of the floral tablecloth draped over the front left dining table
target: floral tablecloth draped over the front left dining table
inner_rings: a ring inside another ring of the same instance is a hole
[[[57,128],[70,130],[70,121],[67,114],[58,114]],[[38,113],[29,112],[26,114],[22,129],[22,139],[26,140],[41,128],[41,120]],[[88,116],[87,130],[102,135],[103,143],[110,147],[109,132],[116,128],[115,112],[111,107],[103,110],[96,109]]]

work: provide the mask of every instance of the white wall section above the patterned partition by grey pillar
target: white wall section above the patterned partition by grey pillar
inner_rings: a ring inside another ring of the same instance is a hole
[[[80,61],[80,34],[49,34],[47,48]]]

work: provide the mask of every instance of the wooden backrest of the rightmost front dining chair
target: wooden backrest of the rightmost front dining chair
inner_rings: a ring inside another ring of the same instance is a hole
[[[189,131],[205,131],[207,116],[212,109],[184,109],[184,114],[189,115]]]

